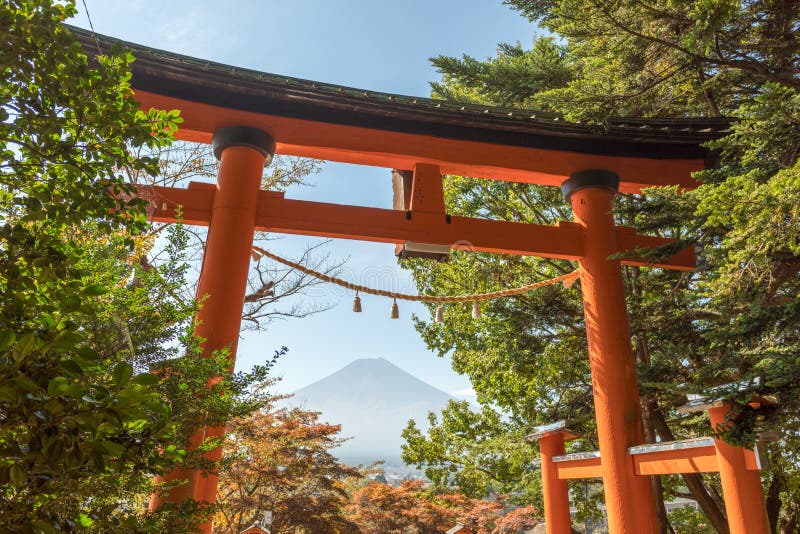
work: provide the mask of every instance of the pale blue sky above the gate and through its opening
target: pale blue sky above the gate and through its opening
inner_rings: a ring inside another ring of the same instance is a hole
[[[265,72],[353,87],[428,96],[438,74],[428,58],[439,54],[494,55],[499,42],[532,42],[536,28],[500,0],[86,0],[94,29],[131,42]],[[72,23],[88,28],[83,5]],[[312,187],[287,197],[391,208],[388,169],[326,163]],[[297,255],[314,238],[286,236],[271,249]],[[393,245],[338,240],[326,245],[333,259],[347,259],[342,275],[384,289],[414,292],[394,259]],[[276,366],[291,392],[357,358],[383,357],[452,394],[469,389],[447,358],[428,351],[411,315],[419,304],[363,297],[364,312],[350,311],[352,296],[316,288],[310,302],[332,304],[323,313],[273,322],[266,332],[244,332],[237,369],[269,358],[282,345],[289,353]]]

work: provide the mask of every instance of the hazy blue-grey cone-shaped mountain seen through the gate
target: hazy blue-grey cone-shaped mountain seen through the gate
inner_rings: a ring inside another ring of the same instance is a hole
[[[288,403],[322,412],[351,437],[335,454],[343,462],[400,463],[400,432],[409,419],[427,429],[427,414],[454,397],[426,384],[383,358],[355,360],[295,392]]]

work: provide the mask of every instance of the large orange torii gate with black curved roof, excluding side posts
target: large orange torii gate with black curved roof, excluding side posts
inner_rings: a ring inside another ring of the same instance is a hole
[[[89,54],[112,42],[73,30]],[[691,270],[694,255],[684,250],[655,264],[609,260],[669,243],[615,226],[611,201],[618,190],[693,187],[691,173],[705,167],[700,144],[719,136],[725,121],[626,120],[599,131],[554,115],[374,93],[126,46],[137,58],[132,85],[142,107],[180,109],[184,122],[177,137],[213,144],[220,160],[216,186],[145,192],[152,220],[175,221],[180,207],[185,223],[209,227],[198,288],[198,296],[208,295],[197,317],[204,353],[229,347],[235,358],[255,230],[578,261],[609,527],[615,533],[656,532],[649,477],[635,472],[628,455],[644,438],[620,264]],[[264,164],[275,153],[413,171],[406,209],[287,200],[261,191]],[[575,222],[543,226],[451,217],[442,200],[442,174],[560,186]],[[192,443],[222,431],[199,429]],[[176,472],[170,478],[188,483],[169,500],[214,502],[214,473]],[[154,498],[151,506],[159,503]],[[210,523],[200,527],[210,529]]]

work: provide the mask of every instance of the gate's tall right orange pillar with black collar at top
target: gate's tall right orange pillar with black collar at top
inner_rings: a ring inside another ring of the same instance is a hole
[[[644,441],[622,270],[611,213],[619,177],[610,171],[573,174],[561,186],[583,229],[580,260],[594,409],[608,527],[615,534],[657,532],[648,477],[637,477],[628,447]]]

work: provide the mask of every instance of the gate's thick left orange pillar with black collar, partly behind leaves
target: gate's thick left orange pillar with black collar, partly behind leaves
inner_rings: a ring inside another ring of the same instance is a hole
[[[265,132],[244,126],[221,128],[214,132],[212,142],[220,167],[197,289],[198,300],[204,300],[197,313],[195,332],[205,340],[204,357],[215,350],[229,348],[233,367],[247,289],[258,193],[264,164],[272,158],[275,142]],[[199,429],[191,438],[191,446],[196,447],[206,437],[223,433],[224,428]],[[221,454],[217,449],[209,453],[209,457],[218,459]],[[176,487],[166,500],[180,502],[194,498],[214,502],[218,480],[215,473],[192,470],[180,475],[188,478],[188,483]],[[171,474],[169,478],[178,477]],[[159,499],[154,497],[151,509],[159,504]],[[210,522],[201,525],[200,531],[210,532]]]

